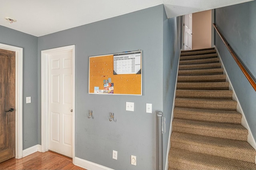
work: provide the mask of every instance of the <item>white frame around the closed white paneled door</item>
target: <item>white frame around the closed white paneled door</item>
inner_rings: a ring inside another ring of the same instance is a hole
[[[75,45],[69,45],[65,47],[47,49],[41,51],[41,138],[42,138],[42,152],[49,150],[48,146],[48,59],[50,54],[72,51],[72,60],[73,60],[73,163],[75,158]]]

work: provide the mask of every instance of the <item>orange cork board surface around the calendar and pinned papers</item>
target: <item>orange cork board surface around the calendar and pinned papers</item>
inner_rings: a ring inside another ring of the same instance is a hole
[[[142,74],[114,74],[114,55],[116,54],[89,57],[89,93],[142,95]],[[104,80],[110,80],[109,78],[114,83],[113,93],[94,91],[94,87],[104,90]]]

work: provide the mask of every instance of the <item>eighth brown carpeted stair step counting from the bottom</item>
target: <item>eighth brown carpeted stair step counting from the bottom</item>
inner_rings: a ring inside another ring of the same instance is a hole
[[[220,82],[226,81],[226,75],[179,75],[178,82]]]

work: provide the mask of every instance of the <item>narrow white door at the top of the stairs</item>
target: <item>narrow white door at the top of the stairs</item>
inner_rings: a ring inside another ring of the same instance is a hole
[[[192,14],[184,15],[184,50],[192,49]]]

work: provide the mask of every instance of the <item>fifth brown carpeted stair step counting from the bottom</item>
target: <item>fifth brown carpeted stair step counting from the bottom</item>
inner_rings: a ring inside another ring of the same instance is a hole
[[[194,109],[215,109],[225,111],[236,111],[237,102],[230,99],[175,99],[175,107],[185,107]]]

